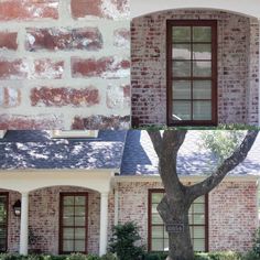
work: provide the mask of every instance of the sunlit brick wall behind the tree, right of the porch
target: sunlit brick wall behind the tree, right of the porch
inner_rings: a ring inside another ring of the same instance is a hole
[[[148,189],[160,183],[120,183],[119,221],[137,221],[143,243],[148,242]],[[208,197],[209,251],[250,249],[258,228],[257,184],[223,183]],[[134,210],[133,210],[134,208]]]

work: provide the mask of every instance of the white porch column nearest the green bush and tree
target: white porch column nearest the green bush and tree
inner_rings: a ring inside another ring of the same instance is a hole
[[[99,256],[107,252],[108,237],[108,193],[101,193],[100,202],[100,235],[99,235]]]

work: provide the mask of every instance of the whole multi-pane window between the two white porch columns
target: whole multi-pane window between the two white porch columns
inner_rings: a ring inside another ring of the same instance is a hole
[[[87,253],[86,193],[61,194],[59,253]]]

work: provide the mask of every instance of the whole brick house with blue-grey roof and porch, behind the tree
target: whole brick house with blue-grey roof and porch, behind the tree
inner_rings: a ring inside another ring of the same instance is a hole
[[[178,153],[185,184],[203,180],[216,165],[201,134],[189,131]],[[259,145],[260,138],[242,164],[192,205],[195,250],[250,249],[258,228]],[[139,224],[148,250],[167,249],[155,210],[163,195],[158,158],[145,131],[76,139],[8,131],[0,150],[0,251],[102,254],[112,225],[128,220]]]

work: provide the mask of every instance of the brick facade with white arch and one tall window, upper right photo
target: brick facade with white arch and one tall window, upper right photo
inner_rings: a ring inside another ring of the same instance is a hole
[[[130,1],[132,124],[260,124],[256,0]]]

